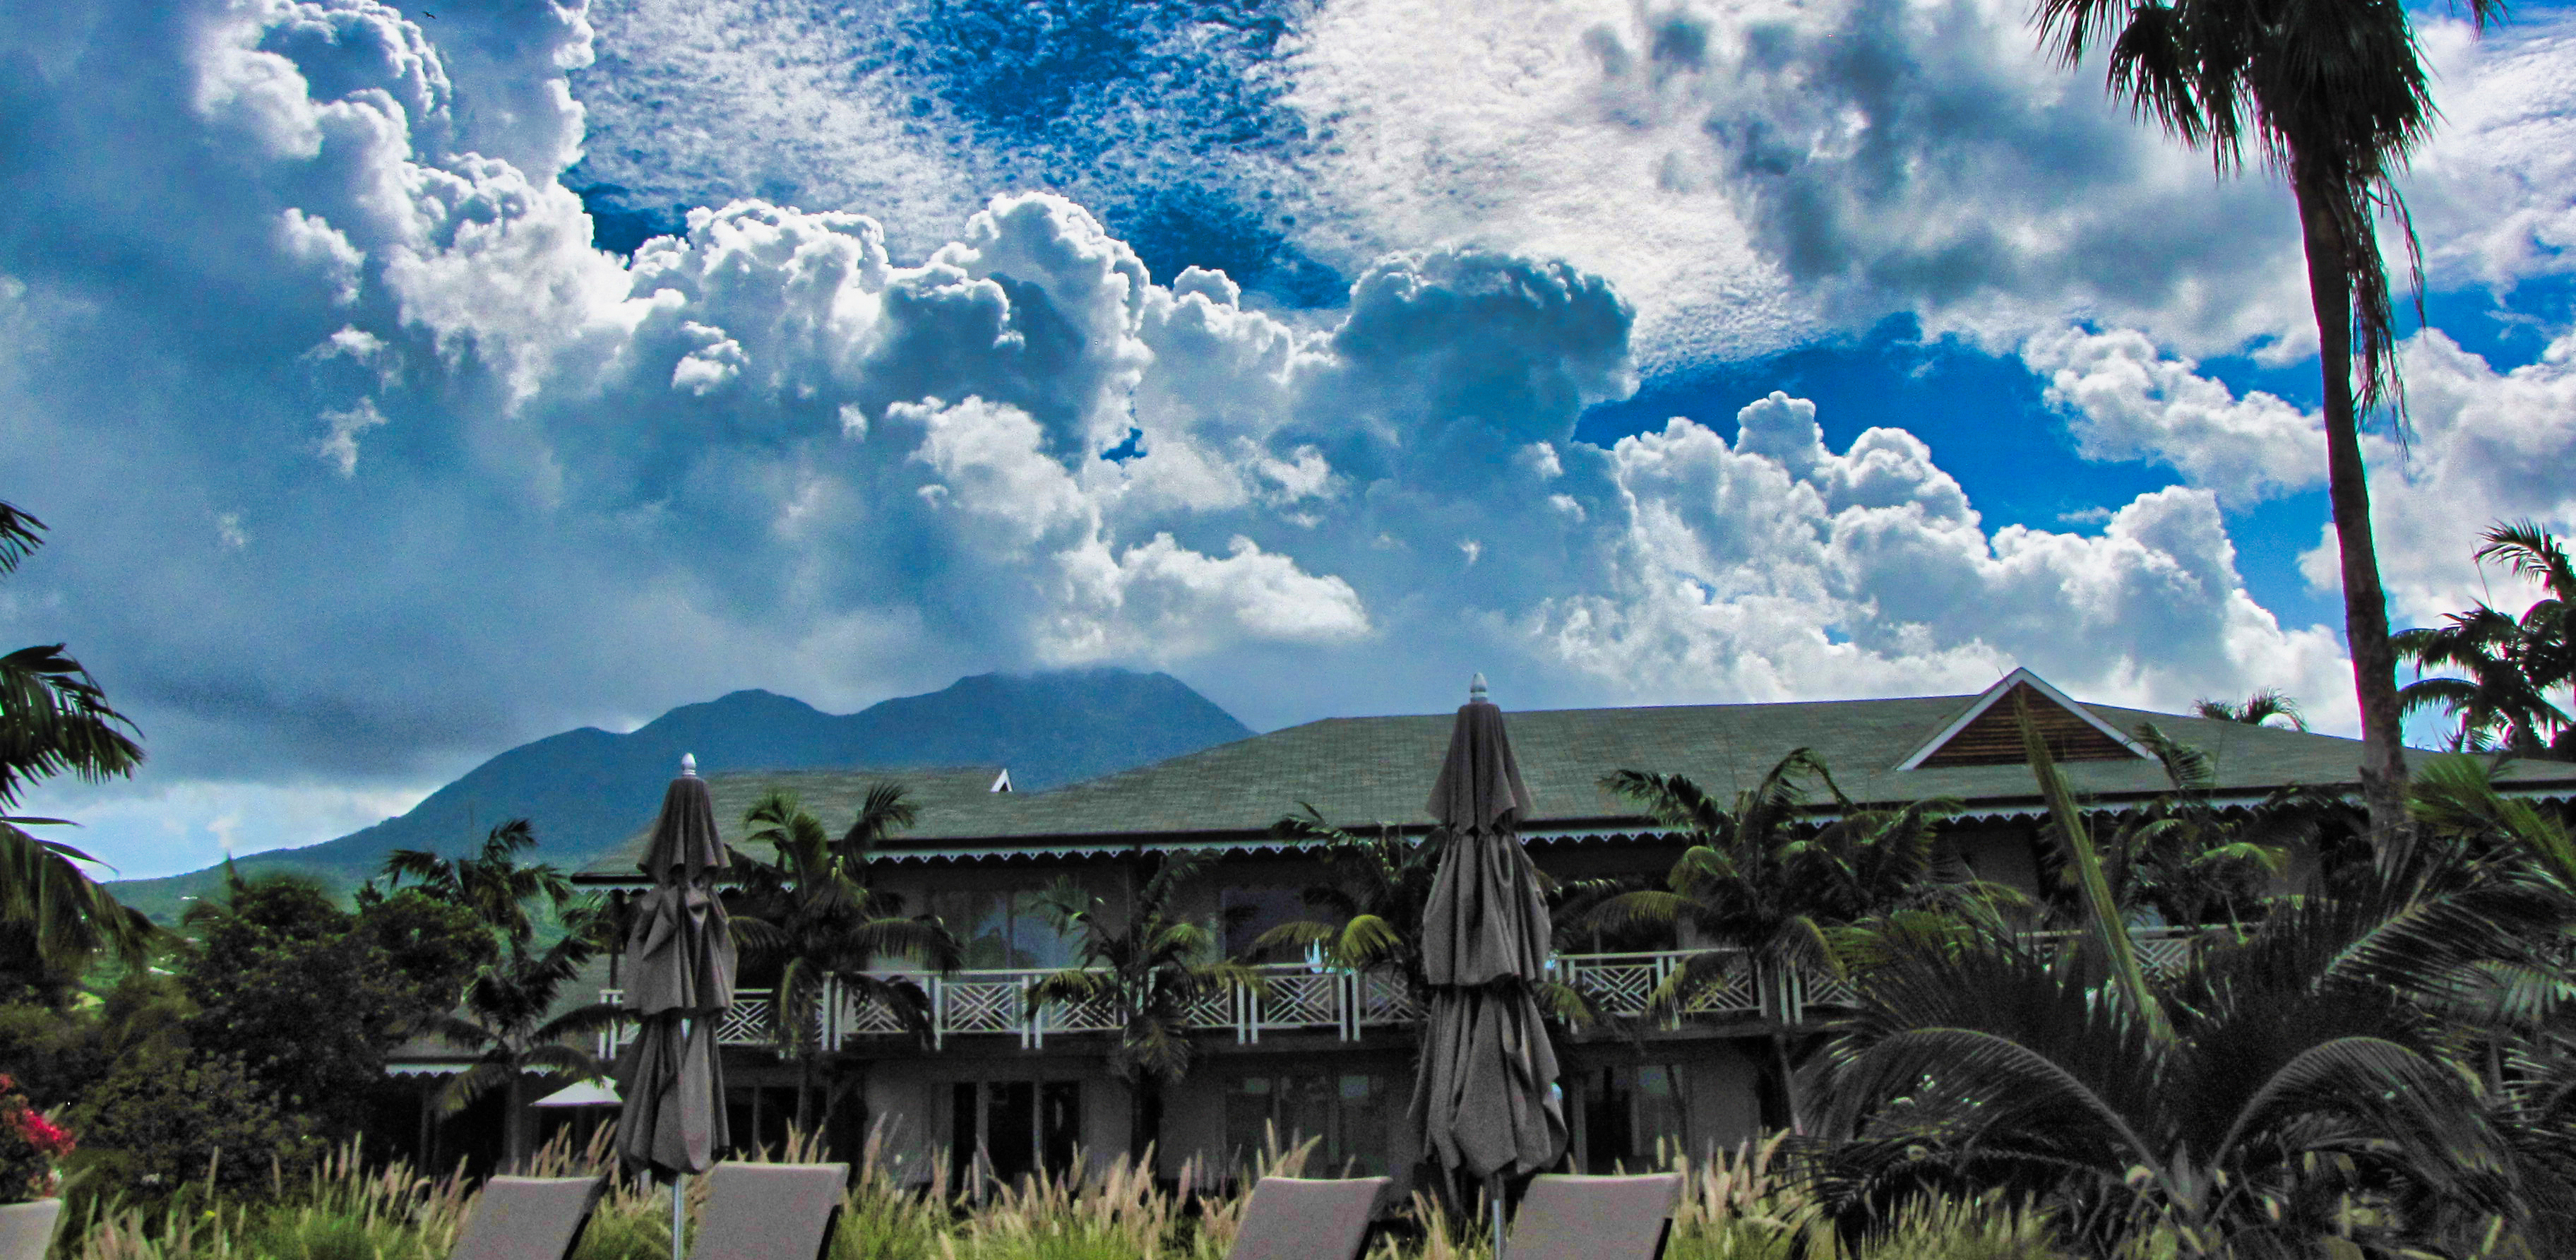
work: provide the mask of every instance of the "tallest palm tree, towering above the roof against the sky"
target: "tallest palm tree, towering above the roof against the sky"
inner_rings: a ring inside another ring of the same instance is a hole
[[[2504,0],[2468,0],[2468,10],[2486,28],[2501,21]],[[2069,67],[2110,39],[2112,95],[2184,144],[2208,147],[2221,173],[2241,167],[2251,142],[2264,165],[2290,178],[2324,376],[2326,497],[2362,709],[2362,788],[2372,830],[2385,835],[2403,825],[2403,706],[2370,536],[2360,412],[2401,402],[2396,314],[2372,216],[2398,216],[2411,258],[2414,224],[2393,178],[2434,116],[2406,5],[2040,0],[2038,26]]]

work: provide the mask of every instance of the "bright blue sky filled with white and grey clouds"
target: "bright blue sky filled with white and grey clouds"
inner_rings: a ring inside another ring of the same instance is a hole
[[[0,642],[124,876],[987,670],[2357,727],[2287,191],[2027,0],[430,3],[0,0]],[[2401,626],[2576,531],[2576,10],[2416,23]]]

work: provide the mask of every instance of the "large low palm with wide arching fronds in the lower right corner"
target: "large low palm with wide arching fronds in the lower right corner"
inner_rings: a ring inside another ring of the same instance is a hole
[[[1821,1072],[1819,1185],[1847,1227],[1976,1185],[2045,1201],[2102,1255],[2148,1229],[2179,1255],[2318,1255],[2329,1237],[2344,1255],[2460,1255],[2571,1193],[2514,1149],[2434,1018],[2576,922],[2555,876],[2391,845],[2367,879],[2282,899],[2156,979],[2123,948],[2128,922],[2048,750],[2025,742],[2087,873],[2092,943],[1994,928],[1883,940]]]

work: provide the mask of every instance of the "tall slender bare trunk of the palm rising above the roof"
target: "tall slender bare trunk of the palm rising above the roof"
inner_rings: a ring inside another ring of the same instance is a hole
[[[2347,198],[2321,162],[2293,160],[2290,188],[2308,250],[2308,304],[2324,376],[2326,500],[2344,569],[2344,644],[2352,652],[2352,696],[2362,709],[2362,799],[2370,832],[2385,843],[2406,819],[2406,745],[2401,742],[2398,652],[2388,642],[2388,593],[2370,539],[2370,477],[2362,466],[2360,417],[2352,410],[2352,273],[2354,240]]]

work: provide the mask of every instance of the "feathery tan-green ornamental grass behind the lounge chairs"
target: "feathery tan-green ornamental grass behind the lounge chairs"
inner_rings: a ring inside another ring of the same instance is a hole
[[[1100,1160],[1087,1175],[1038,1175],[951,1196],[943,1157],[894,1149],[873,1131],[858,1152],[850,1196],[827,1260],[1224,1260],[1262,1175],[1306,1175],[1314,1141],[1270,1141],[1231,1175],[1195,1160],[1172,1183],[1133,1160]],[[783,1162],[822,1160],[791,1139]],[[585,1147],[546,1144],[528,1172],[585,1175],[611,1167],[600,1134]],[[1710,1160],[1667,1157],[1685,1175],[1669,1260],[2061,1260],[2043,1214],[1999,1201],[1927,1201],[1880,1237],[1837,1242],[1785,1172],[1777,1139]],[[1332,1175],[1332,1170],[1316,1170]],[[273,1178],[265,1196],[224,1198],[188,1185],[152,1203],[90,1201],[64,1229],[54,1260],[443,1260],[474,1206],[461,1170],[420,1175],[366,1165],[348,1144],[304,1178]],[[706,1208],[706,1178],[690,1180],[688,1219]],[[1492,1260],[1481,1214],[1450,1216],[1425,1196],[1381,1232],[1368,1260]],[[670,1198],[618,1178],[582,1234],[574,1260],[670,1260]]]

